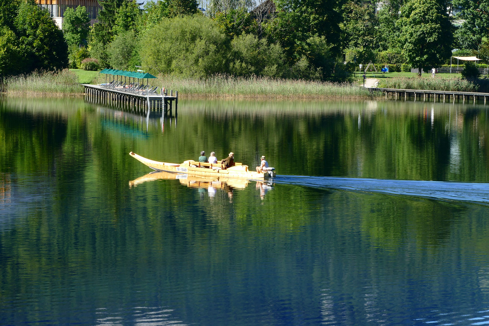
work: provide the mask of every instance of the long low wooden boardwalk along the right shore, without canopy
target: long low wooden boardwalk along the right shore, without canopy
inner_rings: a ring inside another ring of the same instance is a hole
[[[477,92],[453,92],[447,90],[426,90],[426,89],[397,89],[397,88],[378,88],[372,87],[369,88],[371,92],[380,92],[382,94],[385,93],[385,98],[390,95],[391,97],[397,99],[402,99],[404,97],[404,101],[407,99],[411,99],[414,97],[414,101],[430,101],[433,100],[436,102],[443,103],[445,102],[455,102],[455,100],[462,100],[463,103],[469,100],[473,100],[475,104],[477,101],[484,100],[484,104],[486,104],[489,93],[477,93]]]

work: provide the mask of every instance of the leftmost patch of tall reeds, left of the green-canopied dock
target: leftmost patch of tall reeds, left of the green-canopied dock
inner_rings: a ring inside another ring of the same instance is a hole
[[[12,95],[73,95],[83,94],[78,76],[64,69],[58,72],[36,71],[32,74],[6,78],[3,89]]]

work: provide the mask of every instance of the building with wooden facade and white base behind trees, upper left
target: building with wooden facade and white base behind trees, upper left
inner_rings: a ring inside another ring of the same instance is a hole
[[[66,8],[76,8],[78,6],[84,6],[87,8],[89,14],[90,25],[97,22],[98,10],[102,9],[102,6],[98,3],[98,0],[36,0],[36,3],[47,8],[51,13],[51,17],[56,22],[56,25],[61,29],[63,24],[63,15]]]

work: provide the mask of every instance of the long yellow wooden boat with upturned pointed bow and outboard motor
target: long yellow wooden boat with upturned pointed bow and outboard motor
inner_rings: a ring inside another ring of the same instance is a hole
[[[248,166],[243,165],[242,163],[234,163],[234,166],[222,169],[222,164],[220,163],[211,164],[187,160],[181,164],[177,164],[153,161],[133,152],[130,152],[129,154],[155,171],[245,179],[263,179],[275,176],[274,168],[268,168],[269,171],[265,173],[258,173],[249,171]]]

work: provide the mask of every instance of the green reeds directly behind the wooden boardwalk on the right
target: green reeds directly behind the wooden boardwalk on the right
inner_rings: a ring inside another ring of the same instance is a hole
[[[475,92],[478,86],[460,78],[393,77],[382,80],[379,87]]]

